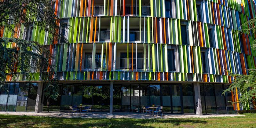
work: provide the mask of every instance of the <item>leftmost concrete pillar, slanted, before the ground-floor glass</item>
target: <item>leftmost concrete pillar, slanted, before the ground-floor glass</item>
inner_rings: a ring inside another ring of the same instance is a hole
[[[42,110],[42,92],[43,92],[43,82],[39,82],[37,86],[37,94],[36,94],[36,106],[35,106],[35,113],[39,113]]]

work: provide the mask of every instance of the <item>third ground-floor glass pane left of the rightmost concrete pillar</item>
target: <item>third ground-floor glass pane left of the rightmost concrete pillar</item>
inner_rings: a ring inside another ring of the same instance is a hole
[[[162,85],[163,112],[171,112],[171,89],[170,85]]]

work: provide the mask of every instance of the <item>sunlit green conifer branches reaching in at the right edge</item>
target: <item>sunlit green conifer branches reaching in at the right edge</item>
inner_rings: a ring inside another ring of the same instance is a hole
[[[253,18],[247,22],[244,22],[240,27],[240,32],[247,34],[247,35],[255,35],[256,34],[256,18]],[[253,40],[251,48],[256,50],[256,40]],[[243,69],[244,70],[244,69]],[[242,103],[243,106],[251,105],[250,107],[255,106],[255,95],[256,95],[256,69],[245,69],[248,71],[247,75],[240,75],[240,74],[233,74],[229,72],[229,75],[234,78],[232,84],[229,86],[228,89],[224,90],[222,94],[226,92],[236,92],[238,90],[241,93],[239,100],[229,101],[232,103]],[[235,95],[235,93],[234,93]]]

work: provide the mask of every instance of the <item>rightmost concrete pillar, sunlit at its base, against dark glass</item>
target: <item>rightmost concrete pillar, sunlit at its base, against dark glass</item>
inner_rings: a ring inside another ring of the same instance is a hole
[[[194,84],[194,90],[195,90],[194,92],[195,92],[196,115],[203,115],[199,83]]]

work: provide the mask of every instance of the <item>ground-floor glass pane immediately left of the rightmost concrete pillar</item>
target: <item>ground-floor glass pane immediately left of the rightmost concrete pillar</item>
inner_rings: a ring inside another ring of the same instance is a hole
[[[194,86],[192,84],[182,84],[182,100],[184,113],[195,113],[193,90]]]

